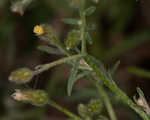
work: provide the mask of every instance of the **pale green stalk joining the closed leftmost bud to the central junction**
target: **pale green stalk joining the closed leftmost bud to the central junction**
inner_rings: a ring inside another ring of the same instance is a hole
[[[54,67],[56,65],[60,65],[62,63],[66,63],[66,62],[69,62],[69,61],[74,60],[74,59],[79,59],[81,57],[83,57],[83,55],[80,55],[80,54],[79,55],[73,55],[73,56],[70,56],[70,57],[65,57],[65,58],[62,58],[60,60],[54,61],[52,63],[40,65],[39,69],[37,69],[34,72],[34,74],[37,75],[37,74],[42,73],[42,72],[44,72],[44,71],[46,71],[46,70],[48,70],[48,69],[50,69],[50,68],[52,68],[52,67]]]

